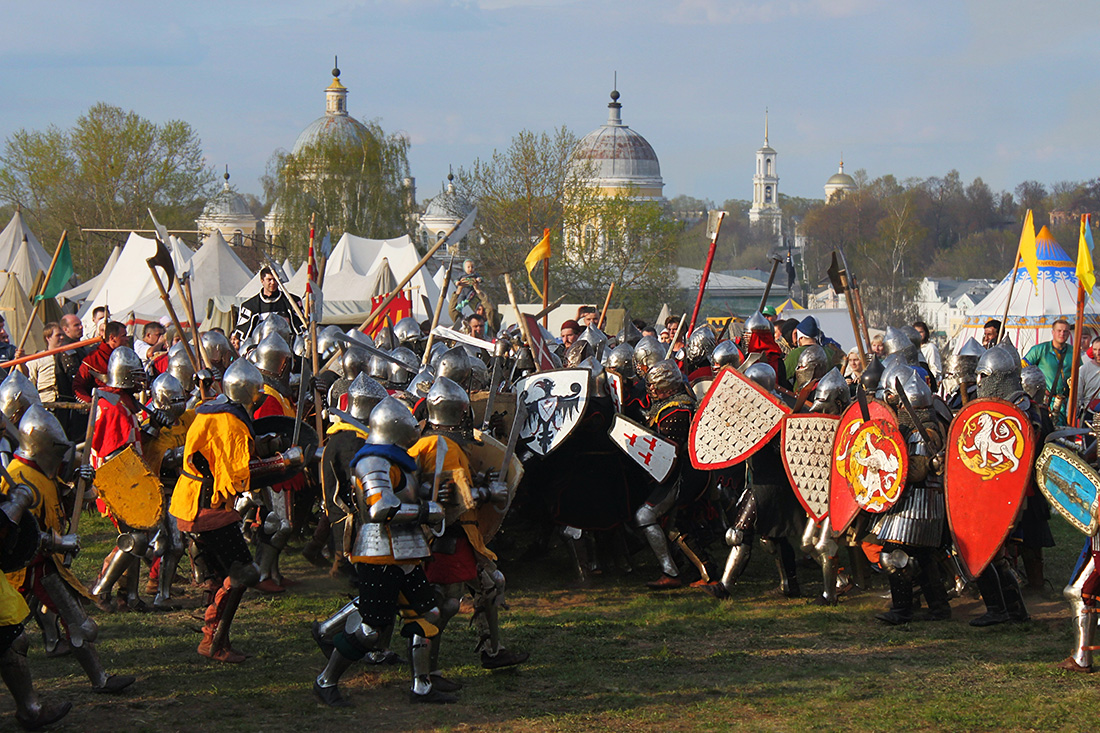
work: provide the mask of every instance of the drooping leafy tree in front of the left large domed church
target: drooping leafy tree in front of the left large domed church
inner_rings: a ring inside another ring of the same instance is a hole
[[[275,243],[301,256],[309,219],[332,241],[344,232],[389,239],[411,229],[408,139],[364,122],[358,139],[328,135],[297,153],[276,151],[267,162],[264,193],[276,208]]]

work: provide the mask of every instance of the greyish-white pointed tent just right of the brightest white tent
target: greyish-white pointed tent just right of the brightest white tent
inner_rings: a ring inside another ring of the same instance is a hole
[[[210,309],[215,307],[212,304],[221,298],[232,297],[252,277],[252,272],[217,229],[206,238],[185,267],[180,269],[180,273],[183,272],[190,273],[195,320],[199,324],[207,319]],[[168,315],[155,284],[153,289],[147,298],[133,307],[135,316],[141,320],[157,320]],[[180,321],[188,320],[187,309],[175,291],[172,293],[172,307]]]

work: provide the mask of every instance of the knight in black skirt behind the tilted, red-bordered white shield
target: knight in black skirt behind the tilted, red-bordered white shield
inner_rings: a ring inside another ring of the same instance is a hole
[[[770,364],[752,364],[745,370],[745,376],[765,391],[776,393],[776,370]],[[777,435],[746,461],[748,480],[734,508],[733,526],[726,530],[729,556],[722,580],[706,587],[707,592],[718,598],[727,598],[745,572],[757,535],[765,549],[776,558],[780,593],[787,598],[802,594],[794,548],[788,537],[802,534],[805,512],[794,495],[780,450],[780,436]]]

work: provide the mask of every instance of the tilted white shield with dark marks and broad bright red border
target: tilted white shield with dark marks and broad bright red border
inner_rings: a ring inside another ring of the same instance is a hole
[[[705,471],[740,463],[771,440],[791,408],[726,366],[703,397],[688,438],[692,466]]]

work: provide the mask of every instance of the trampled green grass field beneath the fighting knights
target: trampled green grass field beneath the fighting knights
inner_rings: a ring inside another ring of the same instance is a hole
[[[1081,537],[1054,523],[1059,546],[1047,568],[1060,590]],[[82,528],[76,570],[90,582],[114,534],[99,519]],[[966,599],[954,602],[953,621],[887,627],[873,620],[883,589],[833,609],[782,599],[759,549],[734,598],[721,602],[691,589],[649,592],[652,558],[635,560],[634,575],[583,589],[571,588],[560,549],[537,566],[505,562],[505,641],[531,659],[482,669],[463,613],[442,652],[448,676],[465,685],[452,705],[409,704],[404,666],[353,668],[343,688],[354,709],[315,702],[324,660],[309,623],[351,588],[293,545],[284,571],[300,584],[282,597],[250,592],[238,613],[234,647],[252,655],[243,665],[196,654],[200,601],[183,587],[179,612],[96,614],[108,669],[139,678],[122,696],[94,694],[72,658],[47,659],[33,624],[31,666],[44,696],[75,703],[58,726],[69,731],[1096,730],[1100,676],[1055,668],[1070,643],[1060,595],[1031,601],[1033,621],[1022,625],[971,628],[981,605]],[[805,592],[820,591],[820,572],[800,577]],[[14,726],[12,710],[0,697],[0,729]]]

